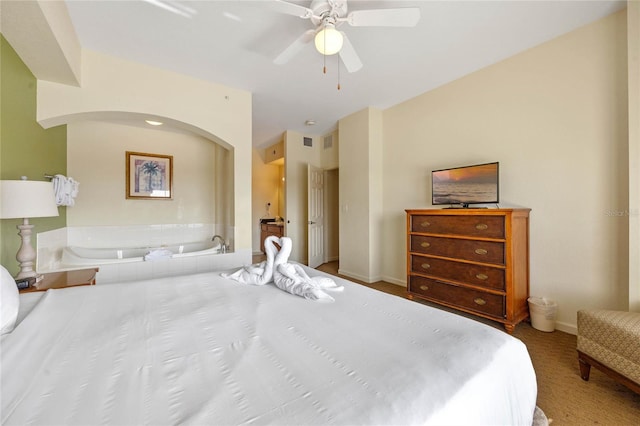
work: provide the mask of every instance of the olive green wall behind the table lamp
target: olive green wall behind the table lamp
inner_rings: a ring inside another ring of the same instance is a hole
[[[37,80],[2,35],[0,44],[0,179],[45,180],[44,174],[66,174],[67,127],[45,130],[36,122]],[[34,233],[65,227],[67,208],[58,211],[58,217],[31,219]],[[0,222],[0,263],[16,275],[20,248],[16,225],[22,220]],[[35,249],[35,235],[31,243]]]

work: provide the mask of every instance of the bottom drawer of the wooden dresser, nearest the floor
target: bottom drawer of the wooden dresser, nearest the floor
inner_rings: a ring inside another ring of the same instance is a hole
[[[505,297],[430,278],[410,276],[409,291],[433,301],[442,301],[460,308],[503,319]]]

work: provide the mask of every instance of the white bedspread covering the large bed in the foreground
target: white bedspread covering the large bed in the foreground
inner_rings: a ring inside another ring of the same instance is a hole
[[[332,304],[216,273],[50,290],[2,336],[2,424],[531,424],[522,342],[336,281]]]

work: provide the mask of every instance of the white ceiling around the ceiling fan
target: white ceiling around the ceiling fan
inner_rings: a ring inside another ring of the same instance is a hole
[[[309,6],[310,1],[293,1]],[[350,27],[363,67],[349,74],[313,43],[273,59],[309,20],[272,2],[67,0],[80,44],[132,61],[253,93],[253,145],[283,131],[324,134],[367,106],[387,108],[626,6],[625,1],[361,1],[350,10],[419,7],[414,28]],[[313,127],[305,121],[315,120]]]

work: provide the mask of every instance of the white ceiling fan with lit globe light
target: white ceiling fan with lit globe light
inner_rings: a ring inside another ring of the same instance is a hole
[[[349,38],[337,28],[343,23],[353,27],[413,27],[420,20],[417,7],[399,9],[366,9],[347,12],[346,0],[313,0],[309,7],[283,0],[275,0],[274,8],[287,15],[309,19],[314,29],[305,31],[273,61],[284,64],[298,54],[311,40],[315,40],[316,49],[323,55],[338,53],[349,72],[362,68]]]

